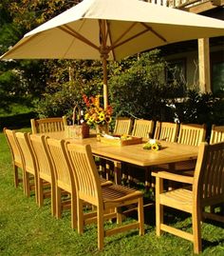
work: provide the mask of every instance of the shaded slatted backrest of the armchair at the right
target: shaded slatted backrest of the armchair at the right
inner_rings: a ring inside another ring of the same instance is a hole
[[[201,147],[200,147],[201,148]],[[199,150],[196,163],[196,196],[202,207],[224,201],[224,142]]]

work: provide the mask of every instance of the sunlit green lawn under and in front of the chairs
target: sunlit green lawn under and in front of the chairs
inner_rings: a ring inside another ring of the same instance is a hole
[[[86,226],[84,235],[70,227],[70,213],[51,217],[50,204],[38,208],[33,196],[26,198],[22,187],[13,187],[9,147],[0,133],[0,255],[193,255],[192,243],[170,234],[155,233],[155,208],[145,208],[145,235],[133,230],[105,239],[103,251],[97,249],[97,229]],[[169,211],[169,222],[191,228],[191,218]],[[131,221],[131,218],[127,221]],[[110,224],[107,224],[110,225]],[[203,253],[224,255],[224,226],[207,222],[202,226]]]

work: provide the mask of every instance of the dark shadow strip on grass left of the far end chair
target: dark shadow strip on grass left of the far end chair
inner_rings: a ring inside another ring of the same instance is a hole
[[[28,128],[30,127],[30,119],[34,117],[36,117],[35,112],[0,117],[0,129]]]

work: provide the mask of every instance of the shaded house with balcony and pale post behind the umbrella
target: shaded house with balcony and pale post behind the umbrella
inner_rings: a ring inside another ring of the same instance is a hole
[[[224,20],[224,0],[148,0],[154,4],[190,11]],[[201,38],[161,47],[161,52],[177,69],[183,90],[218,93],[224,90],[224,37]],[[178,77],[177,77],[178,76]]]

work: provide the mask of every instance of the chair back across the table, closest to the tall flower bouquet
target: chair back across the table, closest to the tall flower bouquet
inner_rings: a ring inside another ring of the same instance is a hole
[[[128,117],[117,117],[115,121],[114,134],[131,134],[132,129],[132,119]]]

